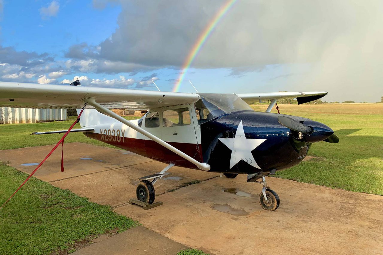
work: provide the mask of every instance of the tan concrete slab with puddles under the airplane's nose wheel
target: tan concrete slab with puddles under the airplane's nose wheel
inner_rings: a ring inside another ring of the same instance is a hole
[[[262,186],[247,183],[244,175],[165,193],[157,198],[164,205],[153,211],[130,205],[115,210],[170,239],[215,254],[383,254],[383,196],[278,178],[267,181],[281,199],[273,212],[259,205]],[[254,196],[223,192],[227,187]],[[232,215],[231,210],[248,215]]]

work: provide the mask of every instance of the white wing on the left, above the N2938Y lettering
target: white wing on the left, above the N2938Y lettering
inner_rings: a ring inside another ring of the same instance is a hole
[[[146,109],[195,103],[200,96],[195,93],[0,82],[1,107],[81,108],[82,100],[86,98],[96,98],[106,108]]]

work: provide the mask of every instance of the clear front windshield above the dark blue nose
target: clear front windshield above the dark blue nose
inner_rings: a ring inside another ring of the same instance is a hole
[[[210,120],[225,113],[250,110],[251,107],[235,94],[199,93],[201,99],[196,103],[201,119]]]

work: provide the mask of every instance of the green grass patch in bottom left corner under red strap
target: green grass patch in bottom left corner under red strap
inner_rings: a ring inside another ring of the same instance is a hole
[[[28,175],[0,165],[0,203]],[[122,232],[137,222],[32,177],[0,210],[0,254],[49,254],[106,230]]]

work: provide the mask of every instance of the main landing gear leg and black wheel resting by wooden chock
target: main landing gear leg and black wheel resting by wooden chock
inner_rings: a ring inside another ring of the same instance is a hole
[[[174,164],[167,165],[167,167],[165,167],[164,170],[162,170],[159,173],[138,178],[139,180],[142,180],[142,181],[138,183],[136,188],[137,199],[139,201],[152,204],[155,199],[155,190],[153,186],[154,183],[157,180],[162,179],[164,177],[164,173],[173,166]]]

